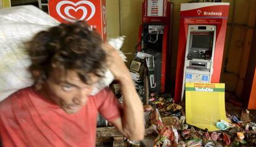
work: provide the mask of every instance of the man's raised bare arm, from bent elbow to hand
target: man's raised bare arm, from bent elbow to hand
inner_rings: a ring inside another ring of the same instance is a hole
[[[116,49],[109,44],[103,44],[103,49],[107,54],[108,68],[120,82],[124,97],[124,115],[112,123],[130,140],[142,140],[145,133],[144,112],[132,77]]]

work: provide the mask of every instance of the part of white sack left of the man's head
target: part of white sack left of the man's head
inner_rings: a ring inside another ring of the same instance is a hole
[[[33,84],[23,42],[56,25],[57,20],[35,6],[0,9],[0,101]]]

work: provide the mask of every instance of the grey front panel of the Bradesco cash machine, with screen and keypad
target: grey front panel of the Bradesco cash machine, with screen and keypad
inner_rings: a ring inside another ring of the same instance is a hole
[[[210,82],[216,41],[215,25],[189,25],[182,97],[186,82]]]

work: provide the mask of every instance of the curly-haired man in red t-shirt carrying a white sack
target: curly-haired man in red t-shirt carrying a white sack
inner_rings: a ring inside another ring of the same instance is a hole
[[[27,42],[35,84],[0,103],[3,146],[95,146],[101,113],[131,140],[144,135],[143,108],[116,49],[85,22],[61,24]],[[90,95],[109,68],[121,84],[121,106],[109,88]]]

